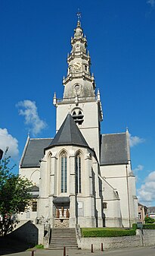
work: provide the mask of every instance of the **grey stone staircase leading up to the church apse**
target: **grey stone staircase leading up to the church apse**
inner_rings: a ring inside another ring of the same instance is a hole
[[[76,229],[51,229],[49,248],[77,249]]]

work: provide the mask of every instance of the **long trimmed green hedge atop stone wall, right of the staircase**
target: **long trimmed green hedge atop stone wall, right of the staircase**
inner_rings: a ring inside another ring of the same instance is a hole
[[[135,235],[135,229],[83,228],[82,237],[116,237]]]

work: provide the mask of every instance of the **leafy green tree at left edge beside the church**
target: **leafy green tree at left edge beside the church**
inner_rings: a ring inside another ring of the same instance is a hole
[[[6,235],[14,229],[13,216],[23,212],[32,202],[29,187],[32,182],[14,174],[13,167],[9,167],[10,156],[5,156],[0,162],[0,233]]]

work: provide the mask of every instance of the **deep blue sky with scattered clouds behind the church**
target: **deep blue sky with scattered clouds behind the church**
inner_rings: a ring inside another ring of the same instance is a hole
[[[52,99],[63,95],[78,8],[101,91],[101,131],[129,128],[139,201],[153,206],[155,0],[1,0],[0,147],[18,165],[28,132],[54,136]]]

